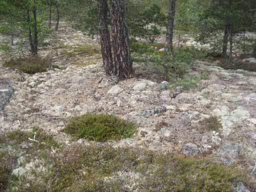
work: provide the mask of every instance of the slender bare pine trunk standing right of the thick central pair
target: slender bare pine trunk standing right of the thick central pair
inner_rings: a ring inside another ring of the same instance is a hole
[[[170,0],[169,20],[168,20],[166,39],[165,39],[165,47],[164,47],[164,54],[165,55],[169,51],[170,52],[172,51],[172,38],[173,38],[173,29],[174,29],[175,6],[176,6],[176,0]]]

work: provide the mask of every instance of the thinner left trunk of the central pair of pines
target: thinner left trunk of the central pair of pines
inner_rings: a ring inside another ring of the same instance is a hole
[[[113,58],[111,52],[111,41],[110,34],[108,30],[108,20],[107,20],[107,0],[99,0],[99,16],[100,16],[100,26],[99,26],[99,35],[100,35],[100,44],[101,44],[101,55],[103,59],[103,66],[106,75],[113,74]]]

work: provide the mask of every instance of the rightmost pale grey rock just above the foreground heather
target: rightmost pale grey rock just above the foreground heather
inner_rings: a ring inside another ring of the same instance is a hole
[[[238,158],[240,156],[240,151],[241,151],[240,144],[227,143],[227,144],[224,144],[219,149],[219,154],[229,158]]]

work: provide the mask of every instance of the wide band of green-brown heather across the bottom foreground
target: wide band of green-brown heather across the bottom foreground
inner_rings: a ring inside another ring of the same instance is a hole
[[[17,156],[13,158],[6,151],[0,152],[1,191],[8,188],[11,192],[224,192],[231,191],[238,181],[246,183],[242,170],[210,160],[109,145],[57,146],[54,139],[41,129],[1,135],[0,145],[8,145],[6,150],[15,148],[15,155],[24,150],[21,154],[26,156],[25,163],[38,158],[45,162],[45,169],[42,169],[45,171],[37,172],[35,166],[25,177],[13,177],[11,171],[16,163],[10,159],[17,159]],[[24,149],[23,146],[27,147]]]

